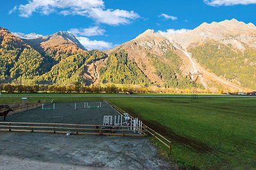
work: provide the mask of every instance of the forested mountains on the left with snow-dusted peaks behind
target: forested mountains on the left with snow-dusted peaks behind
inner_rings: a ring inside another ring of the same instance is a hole
[[[0,80],[24,84],[90,84],[88,68],[103,59],[103,52],[87,52],[68,32],[52,36],[20,39],[0,27]]]

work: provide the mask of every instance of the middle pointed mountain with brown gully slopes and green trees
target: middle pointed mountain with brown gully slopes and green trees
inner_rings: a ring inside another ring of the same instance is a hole
[[[188,76],[182,74],[182,60],[175,52],[172,43],[153,30],[148,29],[132,41],[109,50],[107,53],[110,56],[107,60],[111,60],[113,56],[122,55],[123,62],[113,59],[109,64],[114,65],[112,67],[125,65],[127,70],[135,70],[135,78],[138,78],[141,83],[158,87],[179,87],[181,89],[191,87]],[[105,69],[102,76],[100,76],[100,78],[105,78],[102,82],[134,81],[131,76],[127,77],[126,74],[120,79],[120,76],[113,72],[115,70]],[[106,76],[106,74],[109,74],[109,76]]]

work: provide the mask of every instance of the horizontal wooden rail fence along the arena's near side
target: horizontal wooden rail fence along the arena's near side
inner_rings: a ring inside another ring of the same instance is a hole
[[[0,122],[0,131],[51,132],[66,134],[97,134],[108,136],[147,136],[147,127],[116,125],[46,124],[24,122]]]

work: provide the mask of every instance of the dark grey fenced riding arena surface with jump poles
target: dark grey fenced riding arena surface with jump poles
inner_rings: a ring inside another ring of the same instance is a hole
[[[98,106],[101,107],[98,108]],[[86,103],[87,107],[87,103]],[[90,108],[89,108],[90,107]],[[53,103],[47,104],[33,110],[23,111],[6,117],[6,122],[35,122],[35,123],[56,123],[56,124],[103,124],[104,115],[118,116],[118,112],[105,102],[88,103],[88,108],[84,108],[84,103]],[[12,112],[10,112],[12,114]],[[0,118],[3,121],[3,118]]]

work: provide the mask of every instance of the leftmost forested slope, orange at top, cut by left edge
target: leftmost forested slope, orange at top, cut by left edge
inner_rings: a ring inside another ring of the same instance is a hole
[[[0,27],[0,77],[10,82],[17,77],[31,79],[42,72],[44,57],[22,39]]]

